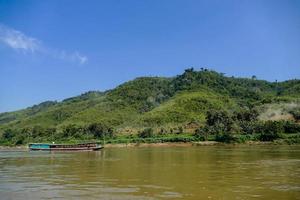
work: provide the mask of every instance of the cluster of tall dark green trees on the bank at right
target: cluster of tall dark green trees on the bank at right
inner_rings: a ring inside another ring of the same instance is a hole
[[[300,133],[300,124],[294,121],[260,121],[255,109],[229,113],[224,110],[207,112],[206,124],[196,129],[195,136],[207,140],[209,135],[216,135],[220,142],[236,141],[236,135],[258,135],[260,141],[273,141],[283,134]]]

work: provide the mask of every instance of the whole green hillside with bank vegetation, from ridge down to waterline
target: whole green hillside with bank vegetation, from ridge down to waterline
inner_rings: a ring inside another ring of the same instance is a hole
[[[0,144],[300,141],[300,80],[268,82],[201,68],[0,114]]]

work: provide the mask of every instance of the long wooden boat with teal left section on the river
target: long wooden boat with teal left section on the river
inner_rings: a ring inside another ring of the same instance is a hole
[[[103,146],[94,142],[82,144],[31,143],[28,147],[31,151],[97,151],[103,148]]]

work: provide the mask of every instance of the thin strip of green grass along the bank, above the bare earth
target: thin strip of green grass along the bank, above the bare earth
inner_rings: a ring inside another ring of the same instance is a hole
[[[64,143],[64,144],[76,144],[76,143],[85,143],[85,142],[97,142],[101,144],[130,144],[130,143],[192,143],[192,142],[203,142],[203,141],[217,141],[220,143],[227,143],[227,144],[242,144],[249,141],[253,142],[272,142],[273,144],[300,144],[300,134],[288,134],[283,133],[276,139],[272,140],[264,140],[262,139],[262,134],[253,134],[253,135],[209,135],[207,138],[199,137],[195,134],[183,133],[183,134],[165,134],[155,135],[151,137],[139,137],[138,135],[118,135],[111,138],[102,138],[102,139],[76,139],[76,138],[65,138],[60,140],[55,140],[56,144]],[[52,143],[53,140],[34,140],[30,142],[37,142],[37,143]],[[25,143],[24,143],[25,144]],[[24,145],[22,144],[22,145]],[[2,142],[1,146],[17,146],[10,142]]]

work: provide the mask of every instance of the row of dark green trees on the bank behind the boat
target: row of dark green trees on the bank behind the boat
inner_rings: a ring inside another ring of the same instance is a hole
[[[101,123],[91,123],[85,126],[69,124],[59,129],[34,126],[4,130],[0,137],[0,144],[22,145],[42,141],[104,140],[112,137],[114,137],[113,128]]]

